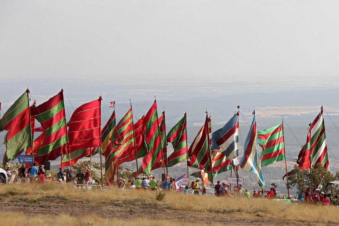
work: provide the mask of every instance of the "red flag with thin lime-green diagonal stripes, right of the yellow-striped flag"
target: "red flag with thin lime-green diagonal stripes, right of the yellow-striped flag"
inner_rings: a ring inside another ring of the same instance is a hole
[[[110,156],[111,160],[109,160],[110,162],[118,159],[126,150],[132,150],[134,148],[132,117],[132,108],[130,108],[116,126],[116,135],[112,137],[113,149]],[[113,138],[115,138],[115,141]],[[129,154],[132,154],[132,152]]]

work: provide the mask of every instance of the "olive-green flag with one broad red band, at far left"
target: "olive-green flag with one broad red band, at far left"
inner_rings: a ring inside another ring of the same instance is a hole
[[[24,149],[32,147],[31,118],[29,116],[29,90],[27,89],[0,119],[0,131],[5,135],[6,152],[3,156],[4,166],[15,160]]]

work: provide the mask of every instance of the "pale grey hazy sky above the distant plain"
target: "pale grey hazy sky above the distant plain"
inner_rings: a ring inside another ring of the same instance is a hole
[[[338,6],[0,0],[0,77],[336,76]]]

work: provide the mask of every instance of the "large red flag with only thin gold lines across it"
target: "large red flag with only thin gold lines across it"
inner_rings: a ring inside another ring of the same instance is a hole
[[[101,100],[100,96],[98,100],[85,103],[73,112],[67,123],[70,149],[101,146]]]

